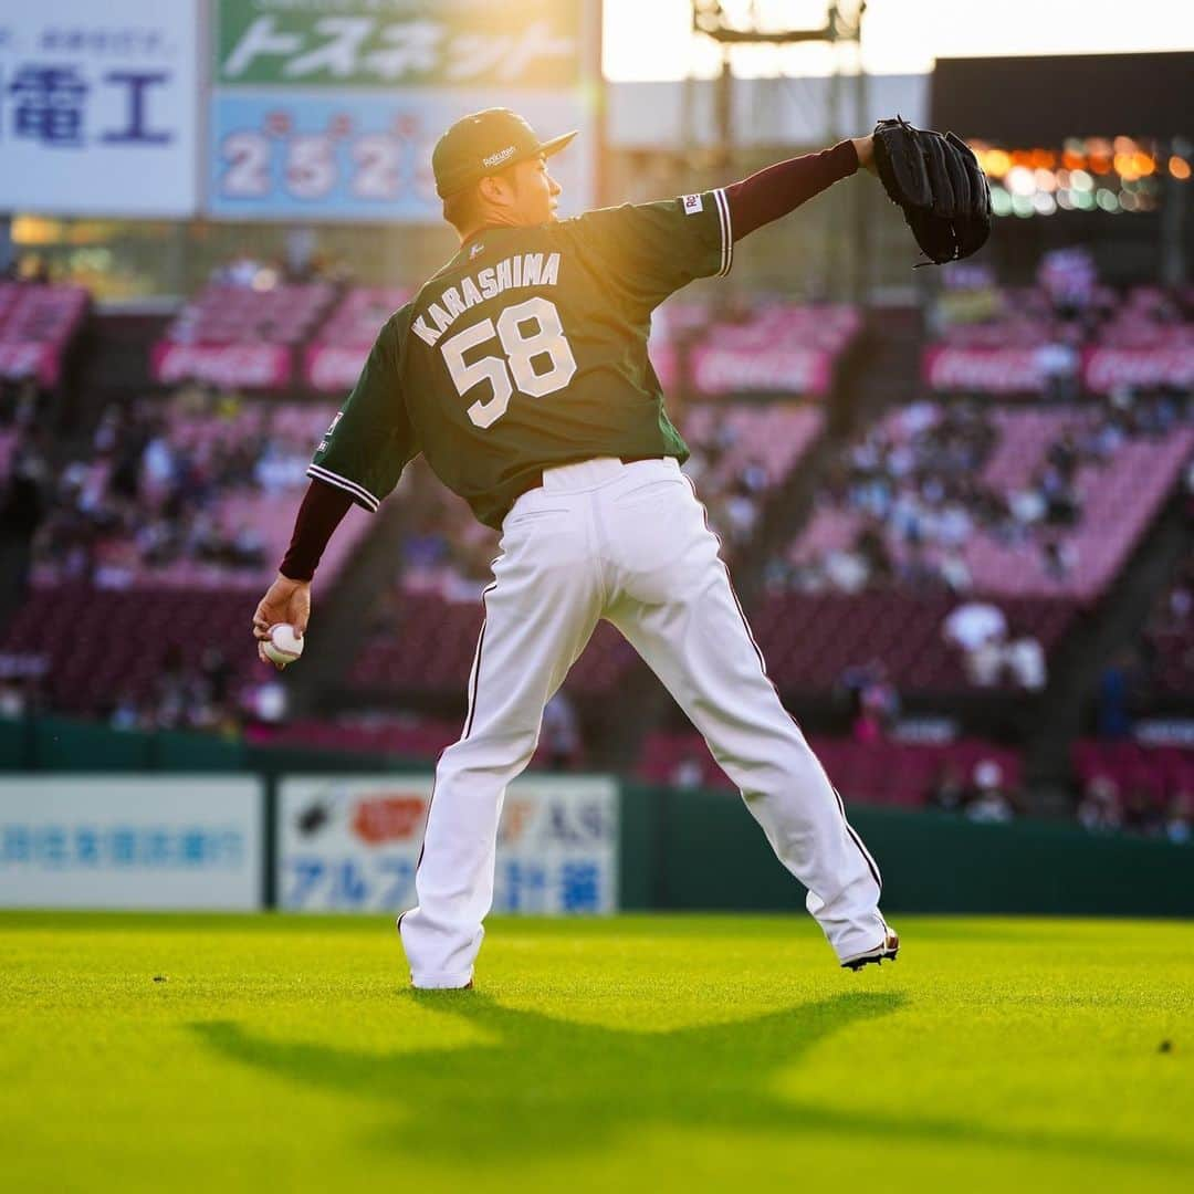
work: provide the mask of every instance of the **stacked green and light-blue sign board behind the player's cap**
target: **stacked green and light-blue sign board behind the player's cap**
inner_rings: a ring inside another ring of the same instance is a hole
[[[543,136],[561,214],[592,204],[589,0],[221,0],[207,208],[223,219],[441,220],[431,150],[454,121],[518,110]],[[596,24],[592,23],[592,29]]]

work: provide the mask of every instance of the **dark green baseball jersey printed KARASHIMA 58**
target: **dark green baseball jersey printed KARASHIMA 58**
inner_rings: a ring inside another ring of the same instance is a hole
[[[544,468],[675,456],[651,313],[733,260],[724,191],[486,228],[387,320],[308,474],[368,510],[419,451],[490,527]]]

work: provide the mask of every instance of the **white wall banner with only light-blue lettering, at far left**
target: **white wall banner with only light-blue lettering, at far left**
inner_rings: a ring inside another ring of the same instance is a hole
[[[261,906],[254,778],[0,780],[0,907]]]

